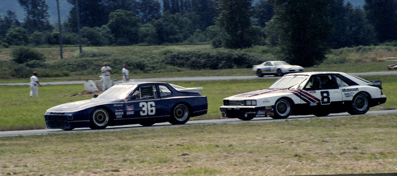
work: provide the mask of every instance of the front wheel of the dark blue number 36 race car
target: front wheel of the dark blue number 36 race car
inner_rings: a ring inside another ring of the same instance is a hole
[[[91,129],[104,129],[110,122],[110,113],[103,108],[97,108],[91,113],[90,128]]]

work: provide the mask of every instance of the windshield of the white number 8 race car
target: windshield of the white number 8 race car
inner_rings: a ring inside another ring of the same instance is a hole
[[[278,79],[276,82],[274,82],[267,89],[288,89],[288,88],[295,89],[299,84],[301,84],[307,78],[309,78],[308,75],[287,75],[287,76],[283,76],[280,79]]]

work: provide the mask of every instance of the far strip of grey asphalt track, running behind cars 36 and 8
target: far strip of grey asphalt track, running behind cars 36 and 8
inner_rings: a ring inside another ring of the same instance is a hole
[[[372,75],[396,75],[397,71],[377,71],[377,72],[363,72],[363,73],[350,73],[356,76],[372,76]],[[274,79],[279,78],[275,76],[258,77],[255,75],[245,76],[188,76],[188,77],[168,77],[168,78],[143,78],[132,79],[134,82],[139,81],[209,81],[209,80],[233,80],[233,79]],[[40,82],[41,85],[59,85],[59,84],[84,84],[85,81],[65,81],[65,82]],[[0,83],[0,85],[30,85],[30,83]]]

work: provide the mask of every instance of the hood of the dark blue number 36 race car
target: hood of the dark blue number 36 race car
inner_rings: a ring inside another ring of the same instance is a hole
[[[62,105],[58,105],[48,109],[47,111],[51,112],[74,112],[80,111],[83,109],[91,108],[98,105],[110,104],[110,103],[118,103],[123,102],[120,99],[101,99],[101,98],[92,98],[90,100],[82,100],[77,102],[66,103]]]

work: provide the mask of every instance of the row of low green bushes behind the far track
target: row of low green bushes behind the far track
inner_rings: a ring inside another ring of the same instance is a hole
[[[42,77],[77,75],[100,75],[100,68],[106,61],[113,73],[121,74],[123,64],[129,65],[131,73],[139,72],[171,72],[189,69],[226,69],[251,68],[253,64],[263,60],[253,55],[235,50],[215,51],[178,51],[158,55],[119,56],[86,50],[76,57],[55,61],[25,60],[17,64],[2,61],[0,66],[7,68],[0,71],[0,78],[23,78],[31,76],[32,71],[40,70]]]

